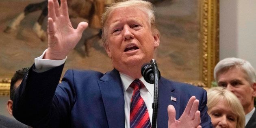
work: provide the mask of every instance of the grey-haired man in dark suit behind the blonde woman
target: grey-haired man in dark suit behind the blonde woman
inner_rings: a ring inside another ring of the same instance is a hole
[[[252,65],[243,59],[226,58],[215,66],[214,78],[239,99],[245,112],[245,128],[256,128],[256,75]]]

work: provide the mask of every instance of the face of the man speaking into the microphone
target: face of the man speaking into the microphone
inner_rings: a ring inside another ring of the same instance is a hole
[[[159,35],[153,35],[146,13],[134,7],[119,8],[109,15],[106,26],[106,52],[119,72],[153,58]]]

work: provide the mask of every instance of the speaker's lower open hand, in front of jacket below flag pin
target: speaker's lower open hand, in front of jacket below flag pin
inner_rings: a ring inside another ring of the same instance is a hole
[[[182,113],[180,119],[176,120],[176,111],[174,106],[169,105],[168,111],[168,128],[202,128],[200,126],[200,111],[198,109],[199,100],[192,96]]]

